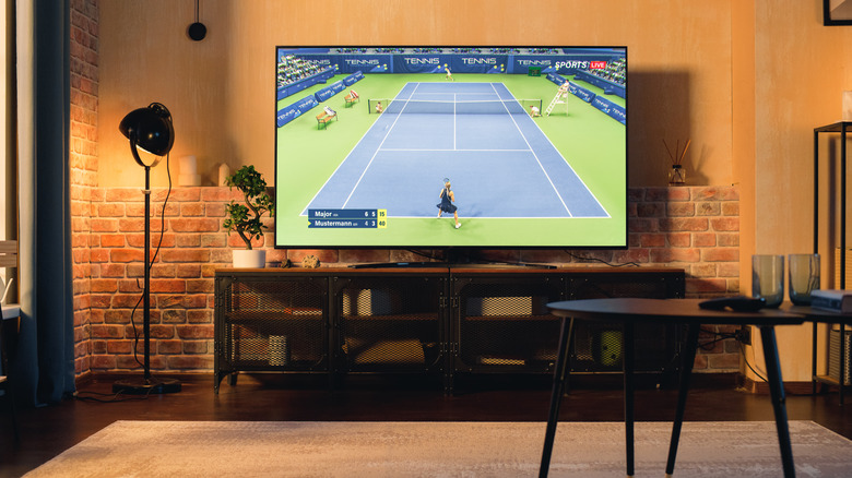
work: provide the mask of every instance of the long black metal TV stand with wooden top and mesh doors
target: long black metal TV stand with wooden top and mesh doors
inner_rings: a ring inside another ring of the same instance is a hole
[[[434,263],[429,263],[434,264]],[[421,374],[453,393],[472,374],[553,374],[559,319],[546,303],[684,297],[684,271],[632,267],[220,268],[214,390],[239,372]],[[637,331],[638,373],[676,371],[678,332]],[[618,324],[579,323],[572,373],[618,373]]]

